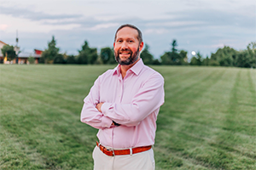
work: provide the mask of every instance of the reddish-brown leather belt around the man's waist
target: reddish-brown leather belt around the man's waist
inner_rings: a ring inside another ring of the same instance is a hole
[[[96,142],[96,144],[99,147],[99,149],[102,150],[102,152],[107,156],[123,156],[123,155],[137,154],[139,152],[150,150],[152,148],[152,146],[142,146],[142,147],[131,148],[126,150],[109,150],[104,146],[102,146],[102,144],[99,144],[98,142]]]

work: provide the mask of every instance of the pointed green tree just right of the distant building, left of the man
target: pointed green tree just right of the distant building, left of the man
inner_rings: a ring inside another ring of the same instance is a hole
[[[41,55],[44,58],[44,63],[52,63],[55,57],[59,54],[60,48],[56,48],[55,37],[53,36],[51,41],[48,42],[48,48],[44,50]]]

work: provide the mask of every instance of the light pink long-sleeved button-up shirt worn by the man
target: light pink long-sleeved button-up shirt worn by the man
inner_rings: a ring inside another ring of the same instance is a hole
[[[104,146],[123,149],[154,144],[156,119],[164,104],[164,78],[140,59],[126,72],[120,65],[96,79],[84,99],[81,122],[99,129]],[[103,102],[102,113],[96,105]],[[121,124],[113,126],[112,121]]]

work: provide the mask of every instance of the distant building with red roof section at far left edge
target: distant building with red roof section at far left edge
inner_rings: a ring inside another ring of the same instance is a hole
[[[18,57],[12,61],[7,61],[6,58],[3,59],[1,50],[4,45],[7,45],[7,43],[0,41],[0,63],[3,64],[29,64],[27,60],[29,57],[35,58],[35,64],[38,64],[41,54],[43,53],[43,51],[39,49],[34,49],[34,53],[20,52],[20,48],[15,46],[15,51],[16,54],[18,54]]]

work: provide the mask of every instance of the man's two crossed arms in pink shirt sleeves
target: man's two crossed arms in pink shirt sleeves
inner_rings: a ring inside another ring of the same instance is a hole
[[[164,103],[164,79],[160,74],[150,76],[133,96],[131,103],[102,103],[101,85],[101,77],[98,77],[84,99],[81,111],[81,122],[98,129],[113,127],[113,122],[127,127],[137,126]]]

